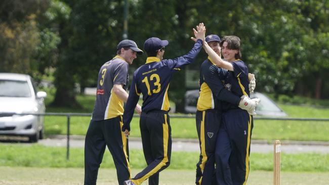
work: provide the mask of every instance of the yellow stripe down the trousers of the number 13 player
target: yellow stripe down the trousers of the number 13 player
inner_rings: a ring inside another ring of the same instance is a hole
[[[143,181],[145,181],[148,177],[159,171],[163,166],[166,166],[166,163],[168,162],[168,140],[169,140],[169,126],[167,123],[167,114],[165,114],[165,124],[162,124],[163,127],[163,159],[162,161],[155,166],[150,172],[148,172],[146,175],[144,175],[142,178],[139,179],[132,179],[132,181],[139,185]]]

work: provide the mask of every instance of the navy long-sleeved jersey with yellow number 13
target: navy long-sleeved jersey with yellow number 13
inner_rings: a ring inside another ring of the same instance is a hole
[[[146,63],[134,72],[125,107],[124,123],[130,123],[140,94],[143,94],[142,112],[169,111],[168,88],[173,73],[193,62],[201,49],[202,40],[198,39],[192,50],[182,57],[162,61],[157,57],[148,57]]]

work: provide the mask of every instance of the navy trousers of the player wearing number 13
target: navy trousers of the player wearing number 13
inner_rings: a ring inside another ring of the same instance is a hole
[[[149,185],[159,184],[159,172],[170,165],[172,135],[169,115],[166,111],[142,112],[139,126],[147,167],[132,181],[139,185],[148,179]]]

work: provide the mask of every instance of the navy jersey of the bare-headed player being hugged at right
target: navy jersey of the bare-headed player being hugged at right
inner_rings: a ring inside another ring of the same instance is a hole
[[[233,71],[228,71],[224,79],[224,86],[227,90],[231,91],[234,95],[241,97],[247,95],[250,97],[249,92],[249,79],[248,79],[248,67],[241,60],[232,62]],[[239,109],[238,105],[232,105],[230,103],[224,103],[223,108]]]

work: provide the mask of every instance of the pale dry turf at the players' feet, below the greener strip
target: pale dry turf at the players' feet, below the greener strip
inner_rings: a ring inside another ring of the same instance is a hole
[[[11,185],[77,185],[84,183],[83,168],[48,168],[48,167],[7,167],[0,166],[0,184]],[[135,175],[140,169],[133,169]],[[190,185],[194,184],[195,170],[165,169],[160,172],[160,185]],[[281,184],[284,185],[326,185],[329,172],[281,172]],[[114,169],[100,168],[98,185],[117,184]],[[147,180],[143,183],[147,185]],[[253,185],[273,184],[273,172],[251,171],[248,183]]]

